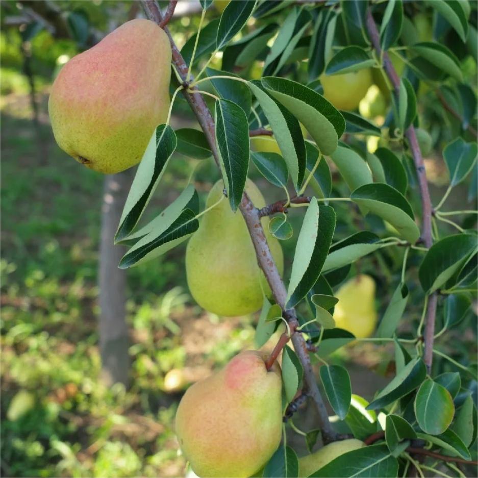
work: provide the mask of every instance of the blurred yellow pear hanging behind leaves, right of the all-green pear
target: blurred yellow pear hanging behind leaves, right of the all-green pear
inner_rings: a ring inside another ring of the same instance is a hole
[[[375,331],[375,282],[370,275],[357,275],[339,288],[339,299],[334,319],[339,329],[353,333],[357,338],[370,337]]]

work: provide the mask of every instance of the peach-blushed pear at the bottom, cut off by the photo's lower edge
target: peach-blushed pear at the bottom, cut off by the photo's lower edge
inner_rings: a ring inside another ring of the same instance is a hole
[[[282,435],[282,379],[267,354],[247,350],[192,385],[176,413],[176,434],[198,476],[251,476]]]

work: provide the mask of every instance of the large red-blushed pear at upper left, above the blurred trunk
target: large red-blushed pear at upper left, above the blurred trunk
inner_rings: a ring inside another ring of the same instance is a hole
[[[95,171],[139,163],[169,110],[171,47],[156,23],[124,23],[61,69],[48,100],[58,145]]]

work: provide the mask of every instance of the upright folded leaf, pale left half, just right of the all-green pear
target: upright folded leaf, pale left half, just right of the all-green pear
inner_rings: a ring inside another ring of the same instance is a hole
[[[287,308],[294,307],[317,281],[335,230],[335,212],[312,198],[300,229],[287,292]]]

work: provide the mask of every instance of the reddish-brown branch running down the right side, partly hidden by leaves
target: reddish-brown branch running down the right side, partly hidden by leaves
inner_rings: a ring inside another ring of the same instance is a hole
[[[380,35],[377,30],[375,20],[372,17],[372,12],[370,7],[367,9],[367,18],[366,18],[366,27],[368,31],[368,36],[372,42],[373,47],[377,55],[383,58],[383,64],[385,72],[392,83],[393,93],[395,98],[398,100],[400,94],[400,79],[398,78],[397,72],[393,67],[390,57],[387,52],[382,52],[380,46]],[[407,137],[408,144],[413,157],[413,162],[415,163],[415,169],[417,171],[418,184],[420,187],[421,195],[421,207],[422,207],[422,234],[421,238],[426,247],[431,247],[433,244],[432,240],[432,201],[430,199],[430,192],[428,189],[428,182],[426,181],[426,171],[425,165],[423,163],[423,158],[421,156],[420,147],[418,146],[417,135],[415,133],[415,128],[413,124],[405,132]],[[433,360],[433,341],[435,335],[435,316],[437,309],[437,294],[434,292],[430,295],[428,301],[428,309],[426,311],[426,324],[425,324],[425,350],[423,354],[423,360],[426,365],[427,371],[430,373],[432,369],[432,360]]]

